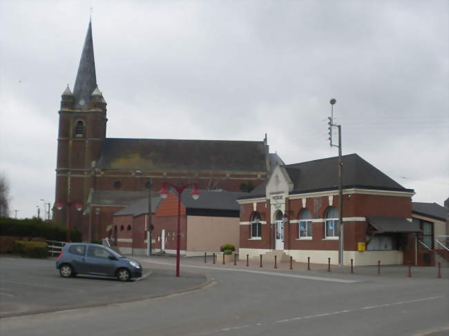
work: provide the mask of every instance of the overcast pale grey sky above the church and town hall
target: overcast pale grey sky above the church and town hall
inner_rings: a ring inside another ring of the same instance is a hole
[[[261,141],[286,164],[356,152],[413,201],[449,196],[448,1],[0,0],[10,210],[55,201],[61,93],[90,6],[107,137]]]

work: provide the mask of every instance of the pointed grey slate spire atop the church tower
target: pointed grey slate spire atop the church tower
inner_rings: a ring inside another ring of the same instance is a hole
[[[97,87],[95,75],[95,59],[93,57],[92,23],[89,20],[86,39],[84,40],[83,52],[79,60],[77,79],[73,88],[74,108],[87,110],[90,94]]]

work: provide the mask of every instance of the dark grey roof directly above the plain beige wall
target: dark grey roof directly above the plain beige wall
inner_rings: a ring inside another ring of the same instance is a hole
[[[195,200],[190,192],[191,190],[184,190],[181,195],[181,203],[187,209],[239,210],[238,197],[248,195],[246,192],[200,190],[201,195]]]

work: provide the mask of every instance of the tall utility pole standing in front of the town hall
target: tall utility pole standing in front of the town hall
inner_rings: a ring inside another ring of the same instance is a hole
[[[336,99],[332,98],[330,104],[331,117],[329,119],[329,141],[331,147],[338,147],[338,221],[340,222],[340,233],[338,235],[338,265],[343,266],[343,160],[341,158],[341,125],[334,123],[334,104]],[[332,144],[332,127],[338,128],[338,145]]]

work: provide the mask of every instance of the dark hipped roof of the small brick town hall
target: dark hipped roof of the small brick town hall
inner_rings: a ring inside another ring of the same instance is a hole
[[[343,188],[408,191],[357,154],[343,155]],[[285,166],[294,184],[293,194],[338,188],[338,157]]]

